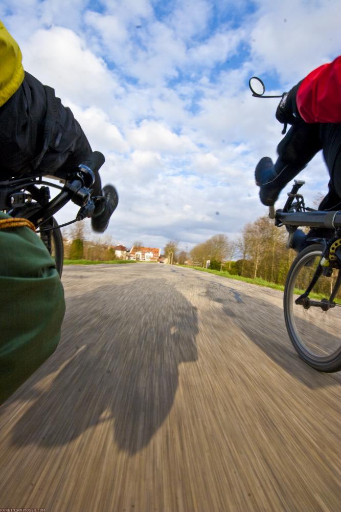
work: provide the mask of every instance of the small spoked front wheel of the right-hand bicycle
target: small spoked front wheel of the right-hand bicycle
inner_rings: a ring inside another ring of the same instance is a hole
[[[284,317],[300,357],[316,370],[337,372],[341,370],[341,292],[334,298],[334,307],[328,306],[328,300],[341,270],[334,269],[329,277],[320,275],[307,300],[295,303],[310,285],[322,252],[323,245],[310,245],[292,263],[284,289]]]

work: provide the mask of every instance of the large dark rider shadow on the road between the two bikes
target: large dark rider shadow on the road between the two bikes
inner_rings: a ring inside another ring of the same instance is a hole
[[[197,360],[196,308],[155,278],[74,296],[66,311],[56,353],[13,398],[32,403],[12,442],[63,445],[114,418],[115,441],[132,455],[169,414],[178,365]]]

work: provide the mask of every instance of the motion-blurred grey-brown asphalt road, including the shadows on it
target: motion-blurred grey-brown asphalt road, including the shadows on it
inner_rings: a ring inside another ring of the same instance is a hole
[[[282,293],[161,264],[72,266],[54,355],[0,408],[0,507],[338,512],[340,373]]]

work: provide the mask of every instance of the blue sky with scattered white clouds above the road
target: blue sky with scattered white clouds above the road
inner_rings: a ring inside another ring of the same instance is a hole
[[[341,53],[339,0],[1,0],[0,18],[105,155],[108,232],[126,246],[190,249],[265,214],[254,168],[276,158],[278,100],[248,78],[282,93]],[[320,155],[300,178],[307,198],[326,192]]]

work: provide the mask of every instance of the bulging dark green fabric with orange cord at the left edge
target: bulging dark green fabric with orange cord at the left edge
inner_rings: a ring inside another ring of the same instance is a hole
[[[64,313],[54,260],[37,234],[0,229],[0,405],[54,352]]]

